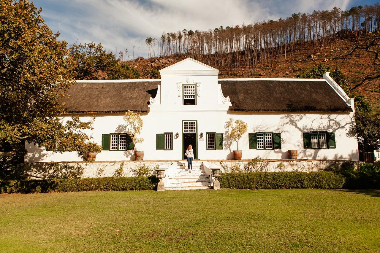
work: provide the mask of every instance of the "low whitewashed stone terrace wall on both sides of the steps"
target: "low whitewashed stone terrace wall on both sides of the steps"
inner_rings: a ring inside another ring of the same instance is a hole
[[[78,177],[111,177],[122,168],[122,176],[136,176],[136,172],[142,166],[149,168],[153,174],[156,166],[170,166],[173,161],[110,161],[110,162],[59,162],[59,163],[25,163],[27,174],[32,179],[52,179],[52,178],[78,178]],[[187,164],[186,161],[182,163]],[[209,166],[221,166],[222,172],[237,171],[323,171],[329,166],[348,163],[348,161],[334,160],[224,160],[207,161]],[[358,162],[351,161],[356,167]],[[187,166],[187,165],[186,165]]]

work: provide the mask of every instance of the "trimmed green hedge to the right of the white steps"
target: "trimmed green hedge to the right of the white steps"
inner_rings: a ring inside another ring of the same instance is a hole
[[[380,173],[250,172],[223,173],[221,188],[234,189],[365,189],[380,188]]]

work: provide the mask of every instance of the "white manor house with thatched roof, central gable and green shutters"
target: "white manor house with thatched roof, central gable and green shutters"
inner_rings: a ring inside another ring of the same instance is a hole
[[[228,138],[228,119],[243,120],[242,159],[359,160],[357,141],[347,136],[354,101],[324,79],[218,79],[219,70],[187,58],[160,70],[161,80],[76,81],[65,98],[67,115],[95,115],[93,141],[103,146],[97,161],[134,160],[123,115],[138,112],[144,141],[136,145],[144,160],[233,159],[236,142]],[[26,144],[25,163],[81,161],[76,152],[47,151]]]

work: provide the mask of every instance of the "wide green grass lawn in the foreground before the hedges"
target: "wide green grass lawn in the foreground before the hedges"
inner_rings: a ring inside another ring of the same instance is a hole
[[[380,190],[0,194],[0,252],[380,250]]]

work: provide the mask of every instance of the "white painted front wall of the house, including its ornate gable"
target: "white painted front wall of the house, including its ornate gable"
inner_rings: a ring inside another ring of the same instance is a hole
[[[137,144],[137,149],[144,151],[144,160],[180,160],[182,159],[182,120],[198,122],[198,158],[224,160],[232,158],[232,150],[236,150],[236,142],[229,147],[226,139],[225,122],[229,118],[241,119],[248,124],[248,131],[239,141],[242,158],[250,159],[260,156],[265,159],[288,158],[288,149],[297,149],[300,159],[339,159],[359,160],[358,144],[354,138],[347,137],[353,112],[346,113],[232,113],[228,112],[230,98],[224,97],[217,84],[218,70],[186,59],[161,70],[161,85],[155,98],[150,99],[150,111],[141,115],[144,122],[141,136],[144,142]],[[329,84],[331,80],[327,79]],[[320,79],[312,79],[318,80]],[[299,79],[297,80],[299,81]],[[107,80],[109,82],[109,80]],[[197,84],[197,104],[182,104],[182,84]],[[181,87],[181,89],[179,89]],[[340,92],[340,90],[339,90]],[[342,98],[348,98],[342,94]],[[345,100],[353,108],[353,99]],[[82,114],[82,120],[89,120],[90,115]],[[70,117],[64,117],[67,120]],[[248,133],[273,131],[281,133],[282,149],[257,150],[249,149]],[[312,150],[303,148],[303,132],[334,132],[336,149]],[[93,140],[101,145],[101,135],[109,133],[125,133],[123,114],[97,114],[94,130],[88,131]],[[156,150],[157,133],[179,133],[173,139],[173,150]],[[223,150],[206,150],[206,132],[223,133],[225,138]],[[204,140],[199,134],[204,134]],[[25,162],[46,161],[81,161],[76,152],[55,153],[44,148],[27,144],[28,154]],[[132,151],[102,151],[97,161],[133,160]]]

